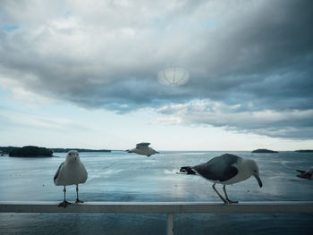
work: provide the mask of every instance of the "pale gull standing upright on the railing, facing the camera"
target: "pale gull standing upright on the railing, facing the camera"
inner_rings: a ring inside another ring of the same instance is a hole
[[[58,206],[63,206],[64,208],[71,203],[66,201],[65,193],[66,189],[65,186],[76,184],[76,203],[82,203],[78,196],[78,185],[80,183],[86,182],[88,177],[88,173],[85,169],[85,166],[80,162],[79,152],[76,150],[71,150],[67,153],[65,162],[60,164],[59,168],[55,172],[55,185],[63,185],[64,189],[64,200]]]

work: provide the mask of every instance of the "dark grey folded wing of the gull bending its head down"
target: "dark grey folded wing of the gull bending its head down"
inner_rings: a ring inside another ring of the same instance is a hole
[[[237,155],[220,155],[212,158],[206,164],[199,164],[192,167],[192,169],[199,172],[201,176],[207,180],[225,181],[233,178],[238,173],[235,164],[239,156]]]

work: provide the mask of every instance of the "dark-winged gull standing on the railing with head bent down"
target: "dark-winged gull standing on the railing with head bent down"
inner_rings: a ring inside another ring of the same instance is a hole
[[[226,185],[247,180],[250,176],[254,176],[258,180],[259,187],[262,187],[262,181],[259,178],[258,164],[255,161],[242,158],[237,155],[224,154],[219,155],[206,164],[198,164],[195,166],[183,166],[180,172],[187,174],[199,174],[213,182],[213,189],[218,197],[227,203],[238,203],[228,198],[226,193]],[[223,184],[225,198],[216,190],[216,183]]]

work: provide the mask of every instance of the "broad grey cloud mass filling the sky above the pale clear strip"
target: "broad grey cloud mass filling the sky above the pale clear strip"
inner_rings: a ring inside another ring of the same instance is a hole
[[[3,26],[19,27],[0,31],[0,80],[117,113],[218,102],[227,108],[208,114],[224,122],[190,106],[182,122],[311,138],[312,1],[2,1],[0,9]],[[190,71],[182,87],[157,83],[157,71],[172,64]],[[262,112],[285,118],[253,117]]]

